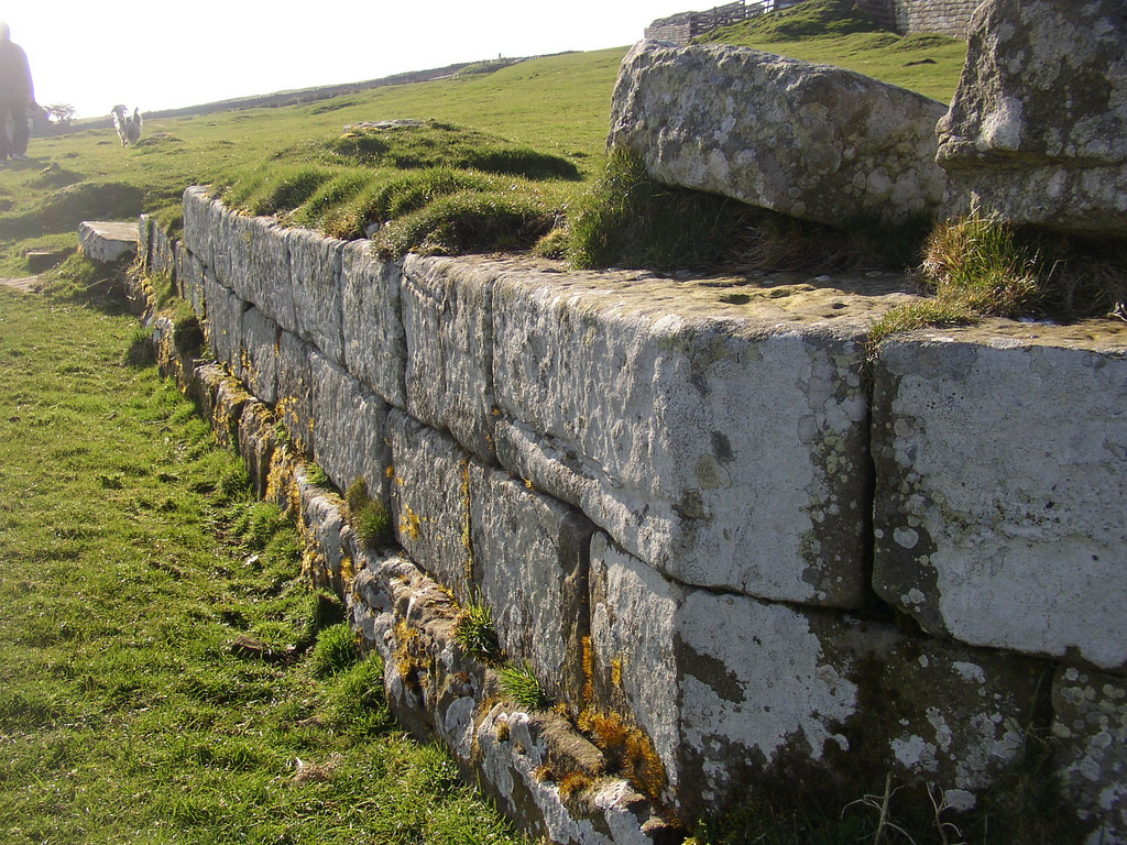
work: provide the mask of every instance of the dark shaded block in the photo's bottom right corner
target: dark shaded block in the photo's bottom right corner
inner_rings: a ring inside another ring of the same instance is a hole
[[[1062,669],[1053,686],[1055,755],[1062,786],[1088,843],[1127,842],[1127,682]]]

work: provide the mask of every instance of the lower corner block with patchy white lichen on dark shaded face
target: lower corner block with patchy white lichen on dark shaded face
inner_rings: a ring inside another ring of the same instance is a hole
[[[687,588],[602,534],[591,587],[594,709],[645,730],[682,818],[772,786],[844,806],[888,775],[969,809],[1020,759],[1046,671],[822,608]]]

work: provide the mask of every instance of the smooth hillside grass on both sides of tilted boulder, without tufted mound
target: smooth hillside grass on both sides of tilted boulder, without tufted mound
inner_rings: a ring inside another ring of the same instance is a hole
[[[815,9],[822,2],[809,0],[806,6]],[[718,30],[710,38],[841,64],[941,99],[953,91],[965,51],[959,42],[870,32],[825,36],[815,29],[811,35],[808,21],[805,29],[793,21],[764,25],[787,14]],[[72,246],[83,219],[124,219],[144,211],[175,223],[187,185],[231,185],[254,178],[272,161],[317,163],[312,154],[303,159],[303,144],[327,144],[345,125],[360,122],[431,118],[485,131],[561,157],[588,180],[605,161],[611,92],[625,51],[534,59],[494,73],[390,86],[299,106],[150,119],[142,144],[134,149],[122,149],[108,128],[34,139],[33,161],[0,170],[0,275],[25,275],[23,255],[28,249]],[[935,64],[917,63],[926,60]],[[552,216],[583,190],[577,184],[541,184],[532,192],[533,202],[540,213]]]

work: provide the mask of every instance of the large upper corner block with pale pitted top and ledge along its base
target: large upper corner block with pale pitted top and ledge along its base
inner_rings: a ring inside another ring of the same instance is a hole
[[[686,584],[863,604],[871,313],[811,295],[761,308],[638,276],[500,276],[500,462]]]

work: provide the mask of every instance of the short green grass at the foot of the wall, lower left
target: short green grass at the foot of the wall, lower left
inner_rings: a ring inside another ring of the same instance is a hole
[[[127,363],[135,321],[60,287],[0,288],[0,842],[518,842],[393,728],[295,530]]]

